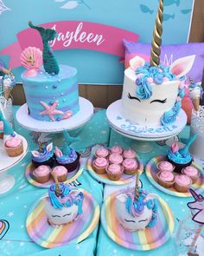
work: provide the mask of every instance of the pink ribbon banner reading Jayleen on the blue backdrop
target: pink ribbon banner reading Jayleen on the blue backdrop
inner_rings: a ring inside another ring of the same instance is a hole
[[[122,40],[137,42],[138,35],[116,27],[80,21],[44,23],[40,26],[53,28],[58,36],[50,42],[52,49],[91,49],[114,56],[124,56]],[[35,46],[42,49],[41,36],[36,30],[22,30],[17,34],[17,42],[0,51],[0,55],[10,56],[10,69],[21,66],[20,55],[23,49]]]

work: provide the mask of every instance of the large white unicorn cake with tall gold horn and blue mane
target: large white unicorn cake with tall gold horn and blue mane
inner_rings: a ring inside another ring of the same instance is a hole
[[[133,124],[148,128],[168,126],[176,121],[184,96],[183,79],[192,68],[195,56],[177,59],[170,67],[160,62],[163,33],[163,0],[159,1],[150,62],[140,56],[124,71],[121,114]]]

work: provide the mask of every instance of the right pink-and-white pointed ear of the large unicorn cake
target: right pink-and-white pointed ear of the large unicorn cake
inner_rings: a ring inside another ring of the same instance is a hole
[[[194,64],[195,56],[186,56],[180,59],[177,59],[175,62],[172,63],[170,66],[170,71],[175,74],[177,78],[186,75]]]

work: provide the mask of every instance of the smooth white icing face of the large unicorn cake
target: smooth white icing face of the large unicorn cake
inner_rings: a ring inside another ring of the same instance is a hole
[[[160,119],[165,111],[173,108],[177,94],[179,81],[168,81],[162,84],[151,83],[152,96],[148,100],[131,100],[131,96],[136,95],[137,84],[135,83],[137,75],[131,68],[124,71],[124,89],[122,95],[122,110],[121,114],[124,118],[133,123],[140,125],[160,125]],[[165,103],[152,102],[153,100],[165,100]]]

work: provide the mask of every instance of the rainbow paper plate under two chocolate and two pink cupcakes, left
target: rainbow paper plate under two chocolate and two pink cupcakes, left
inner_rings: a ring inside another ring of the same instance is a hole
[[[45,183],[39,183],[35,181],[32,176],[32,171],[34,170],[34,168],[35,167],[31,162],[29,163],[28,167],[26,167],[26,170],[25,170],[25,177],[30,184],[32,184],[35,187],[48,188],[52,183],[54,183],[54,180],[52,178],[50,178],[50,180]],[[75,181],[77,178],[80,177],[80,174],[82,174],[82,172],[83,172],[83,167],[81,167],[81,164],[80,164],[79,167],[77,167],[73,172],[67,173],[67,181],[64,181],[64,183],[71,183]]]

